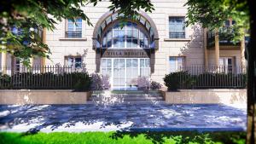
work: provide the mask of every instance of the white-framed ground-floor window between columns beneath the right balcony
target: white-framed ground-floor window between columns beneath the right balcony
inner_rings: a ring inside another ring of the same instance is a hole
[[[219,71],[224,73],[233,72],[233,58],[232,57],[220,57],[218,60]]]

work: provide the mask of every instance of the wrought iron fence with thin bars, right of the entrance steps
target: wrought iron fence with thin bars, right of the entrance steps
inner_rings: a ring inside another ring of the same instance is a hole
[[[179,89],[246,88],[246,68],[240,66],[186,66],[177,72]]]

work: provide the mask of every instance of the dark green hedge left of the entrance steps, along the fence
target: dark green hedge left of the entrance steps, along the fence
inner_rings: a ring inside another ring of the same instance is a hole
[[[0,76],[0,89],[74,89],[90,90],[91,78],[87,72],[55,74],[52,72],[18,72]]]

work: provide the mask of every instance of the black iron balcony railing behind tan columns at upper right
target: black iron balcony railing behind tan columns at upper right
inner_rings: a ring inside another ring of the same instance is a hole
[[[236,46],[240,42],[234,42],[234,33],[236,29],[231,26],[224,26],[219,28],[218,37],[220,46]],[[210,30],[207,32],[207,48],[213,48],[215,46],[215,31]]]

